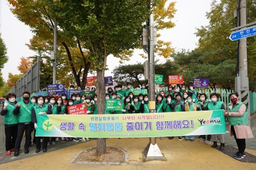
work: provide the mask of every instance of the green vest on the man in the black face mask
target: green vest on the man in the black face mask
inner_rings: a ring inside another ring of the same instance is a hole
[[[19,101],[20,108],[19,108],[19,114],[18,114],[18,122],[19,123],[26,123],[32,121],[31,111],[34,107],[34,103],[31,101],[28,101],[28,105],[24,103],[24,101]]]

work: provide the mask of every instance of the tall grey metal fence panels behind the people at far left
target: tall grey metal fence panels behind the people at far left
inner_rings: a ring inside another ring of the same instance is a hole
[[[14,93],[17,97],[22,96],[24,91],[31,94],[40,90],[40,61],[38,60],[31,66],[30,70],[22,76],[16,83],[16,87],[9,91]]]

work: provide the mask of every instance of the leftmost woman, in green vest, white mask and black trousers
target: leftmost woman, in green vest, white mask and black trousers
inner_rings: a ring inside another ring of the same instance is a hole
[[[3,124],[5,124],[5,150],[6,155],[11,155],[14,152],[14,145],[18,133],[18,116],[13,114],[13,110],[16,104],[16,95],[7,94],[5,104],[1,111],[3,116]]]

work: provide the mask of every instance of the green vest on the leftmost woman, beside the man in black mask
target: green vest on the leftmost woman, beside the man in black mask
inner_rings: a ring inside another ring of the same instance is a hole
[[[13,114],[13,110],[15,105],[11,103],[10,101],[7,101],[7,112],[5,116],[3,116],[3,123],[5,125],[11,125],[11,124],[18,124],[18,115]]]

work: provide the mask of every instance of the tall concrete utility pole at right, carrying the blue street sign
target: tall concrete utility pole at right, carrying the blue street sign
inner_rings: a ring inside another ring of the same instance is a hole
[[[238,27],[247,24],[246,15],[246,0],[238,1]],[[241,96],[240,99],[248,106],[247,118],[250,125],[250,108],[249,108],[249,79],[247,71],[247,38],[243,38],[238,41],[238,55],[239,55],[239,76],[241,84]],[[238,87],[239,88],[239,87]]]

